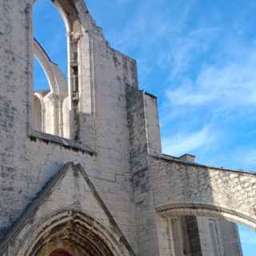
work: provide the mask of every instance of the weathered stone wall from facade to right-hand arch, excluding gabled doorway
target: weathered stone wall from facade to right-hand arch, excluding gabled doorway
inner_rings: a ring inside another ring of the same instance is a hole
[[[56,0],[64,13],[70,2]],[[83,166],[138,255],[174,255],[171,216],[214,216],[255,227],[255,175],[160,155],[157,101],[138,90],[136,62],[108,45],[82,0],[73,3],[73,32],[81,29],[78,120],[71,98],[63,104],[63,118],[64,134],[78,131],[76,141],[31,131],[31,6],[26,0],[0,0],[0,239],[66,162]],[[69,97],[72,89],[69,83]],[[111,229],[100,211],[82,204],[86,188],[80,179],[69,186],[72,178],[46,202],[35,222],[66,206],[79,206]]]

